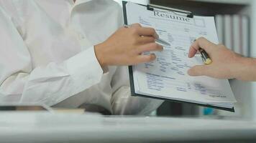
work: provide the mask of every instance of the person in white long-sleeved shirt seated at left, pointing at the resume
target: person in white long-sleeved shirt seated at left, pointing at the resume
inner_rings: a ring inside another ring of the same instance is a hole
[[[155,59],[154,29],[122,27],[109,0],[0,0],[0,104],[96,106],[149,114],[163,101],[132,97],[127,65]]]

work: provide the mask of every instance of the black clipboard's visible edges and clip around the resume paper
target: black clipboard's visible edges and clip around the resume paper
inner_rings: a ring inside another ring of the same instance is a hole
[[[128,24],[127,9],[126,9],[127,1],[122,1],[122,5],[123,5],[123,14],[124,14],[124,24]],[[180,9],[173,9],[173,8],[169,8],[169,7],[165,7],[165,6],[157,6],[155,4],[148,4],[148,5],[140,4],[140,5],[147,7],[148,11],[154,11],[155,8],[157,8],[157,9],[172,11],[174,13],[177,12],[179,14],[186,14],[187,17],[193,18],[193,13],[191,11],[183,11],[183,10],[180,10]],[[162,99],[162,100],[170,101],[170,102],[194,104],[194,105],[198,105],[198,106],[201,106],[201,107],[211,107],[211,108],[214,108],[214,109],[221,109],[221,110],[224,110],[224,111],[234,112],[234,107],[230,109],[230,108],[225,108],[225,107],[216,107],[216,106],[213,106],[211,104],[198,104],[198,103],[193,103],[193,102],[184,102],[184,101],[180,101],[180,100],[165,99],[165,98],[160,98],[160,97],[151,97],[151,96],[148,96],[148,95],[137,94],[137,93],[135,93],[135,89],[134,89],[133,68],[132,68],[132,66],[128,66],[128,69],[129,69],[129,84],[130,84],[131,94],[134,97],[147,97],[147,98],[151,98],[151,99]]]

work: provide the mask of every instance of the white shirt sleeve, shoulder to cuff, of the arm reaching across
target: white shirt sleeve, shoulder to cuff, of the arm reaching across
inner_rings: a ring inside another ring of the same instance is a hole
[[[32,69],[31,56],[12,19],[0,9],[0,102],[52,106],[101,81],[93,46],[60,63]]]

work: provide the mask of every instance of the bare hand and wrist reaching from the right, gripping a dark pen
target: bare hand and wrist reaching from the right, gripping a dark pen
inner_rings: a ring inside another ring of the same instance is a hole
[[[251,69],[251,64],[255,59],[244,58],[239,54],[227,49],[222,44],[213,44],[210,41],[199,38],[197,39],[189,49],[188,57],[195,56],[199,47],[204,49],[211,57],[212,63],[209,65],[193,66],[188,70],[188,74],[191,76],[208,76],[218,79],[241,79],[252,80],[252,74],[248,72]],[[256,64],[254,65],[256,66]],[[254,69],[255,70],[255,69]],[[255,71],[256,72],[256,71]],[[248,73],[248,75],[244,75]]]

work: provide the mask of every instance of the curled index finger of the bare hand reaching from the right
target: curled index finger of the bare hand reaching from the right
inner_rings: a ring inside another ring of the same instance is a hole
[[[213,51],[212,49],[213,46],[214,46],[214,43],[211,43],[211,41],[208,41],[204,37],[196,39],[196,41],[193,42],[193,44],[189,49],[188,57],[195,56],[199,48],[204,49],[207,53],[211,54],[211,52]]]

